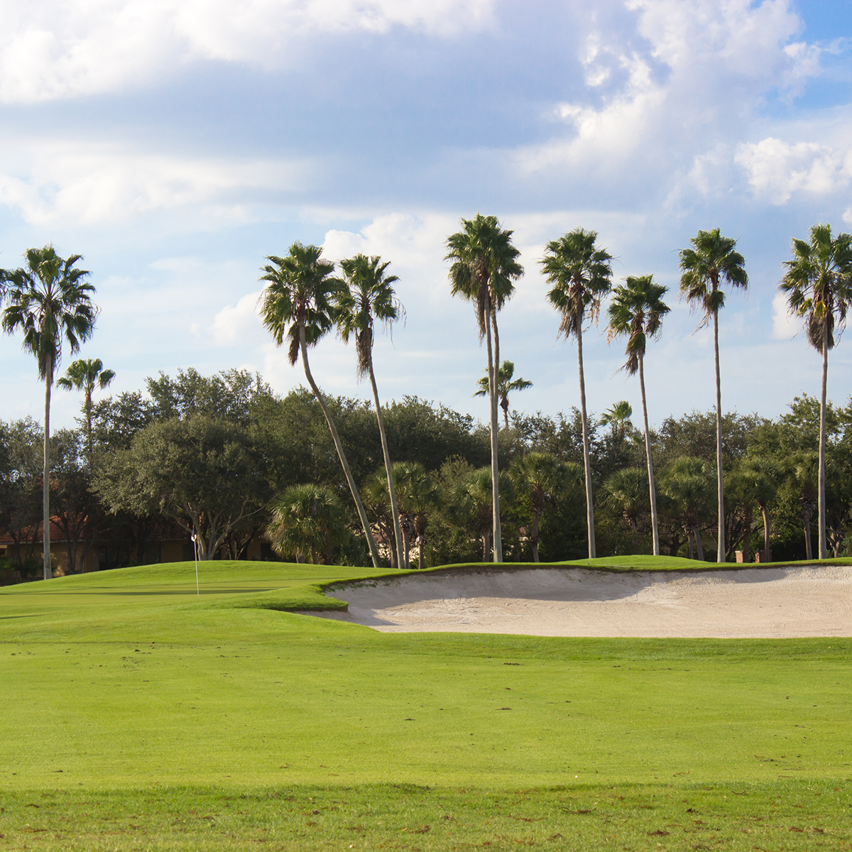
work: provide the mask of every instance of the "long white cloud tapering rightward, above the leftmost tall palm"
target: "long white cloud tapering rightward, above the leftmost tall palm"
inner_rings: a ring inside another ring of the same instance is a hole
[[[248,200],[298,188],[313,170],[307,163],[189,158],[99,143],[3,147],[6,168],[9,159],[20,165],[0,172],[0,204],[35,225],[109,223],[187,206],[243,221]]]

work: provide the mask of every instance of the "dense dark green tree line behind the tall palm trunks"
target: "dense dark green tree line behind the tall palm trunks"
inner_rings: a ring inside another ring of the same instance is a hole
[[[371,403],[333,397],[325,404],[348,453],[380,551],[380,564],[429,567],[492,558],[491,440],[487,424],[440,404],[405,397],[383,406],[402,560]],[[653,552],[643,429],[630,406],[591,417],[589,443],[596,533],[602,554]],[[583,428],[579,409],[550,417],[509,413],[498,433],[505,561],[581,558],[584,522]],[[602,423],[603,421],[603,423]],[[826,410],[828,542],[852,552],[852,400]],[[774,420],[722,417],[726,560],[749,561],[769,546],[777,559],[812,555],[820,405],[792,401]],[[30,419],[0,423],[0,530],[25,572],[40,567],[43,430]],[[709,556],[717,540],[715,412],[669,417],[650,430],[657,462],[661,551]],[[90,440],[90,443],[89,443]],[[203,558],[244,557],[269,531],[292,561],[364,564],[370,553],[325,414],[308,389],[283,397],[245,371],[213,377],[193,370],[149,378],[145,392],[83,408],[78,429],[50,438],[55,527],[68,565],[100,548],[101,567],[153,561],[158,531],[176,524],[195,534]],[[274,554],[269,554],[275,558]]]

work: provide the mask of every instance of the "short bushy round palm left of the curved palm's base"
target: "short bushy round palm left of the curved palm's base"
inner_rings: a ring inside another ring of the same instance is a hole
[[[267,536],[279,556],[296,554],[314,565],[328,564],[331,550],[349,538],[346,512],[324,485],[294,485],[274,498]]]

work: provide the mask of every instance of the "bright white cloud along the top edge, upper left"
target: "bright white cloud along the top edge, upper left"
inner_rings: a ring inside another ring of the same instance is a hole
[[[314,34],[480,30],[492,0],[43,0],[0,2],[0,101],[93,95],[192,60],[295,64]]]

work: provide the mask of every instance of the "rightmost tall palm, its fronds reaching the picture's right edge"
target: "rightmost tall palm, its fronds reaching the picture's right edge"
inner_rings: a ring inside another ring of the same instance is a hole
[[[828,350],[837,343],[835,331],[846,325],[852,303],[852,234],[838,233],[832,239],[831,225],[814,225],[810,240],[793,239],[793,257],[778,289],[787,297],[790,313],[805,320],[808,343],[822,354],[820,389],[819,509],[820,559],[828,555],[826,545],[826,382]]]

